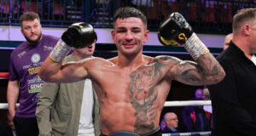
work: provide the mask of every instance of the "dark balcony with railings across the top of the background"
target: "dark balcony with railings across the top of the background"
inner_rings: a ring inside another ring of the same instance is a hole
[[[67,27],[76,21],[111,28],[116,8],[137,7],[156,31],[161,20],[179,12],[196,32],[227,34],[237,9],[255,7],[253,0],[0,0],[0,24],[20,26],[20,14],[40,14],[43,26]]]

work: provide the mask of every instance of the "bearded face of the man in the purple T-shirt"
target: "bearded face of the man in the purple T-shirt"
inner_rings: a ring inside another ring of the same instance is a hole
[[[36,43],[42,38],[42,26],[38,19],[23,20],[21,23],[21,32],[29,43]]]

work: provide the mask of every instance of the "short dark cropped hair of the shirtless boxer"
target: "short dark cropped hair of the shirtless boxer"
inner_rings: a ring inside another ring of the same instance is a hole
[[[113,28],[114,28],[115,21],[117,19],[125,19],[130,17],[137,17],[143,20],[143,24],[146,26],[146,29],[147,29],[148,20],[145,14],[143,14],[143,12],[140,11],[139,9],[132,8],[132,7],[123,7],[123,8],[118,8],[116,10],[115,14],[113,15]]]

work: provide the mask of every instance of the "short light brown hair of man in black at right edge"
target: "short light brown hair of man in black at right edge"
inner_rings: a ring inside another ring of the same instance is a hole
[[[233,33],[236,33],[241,26],[248,21],[255,19],[256,8],[243,8],[237,11],[233,17]]]

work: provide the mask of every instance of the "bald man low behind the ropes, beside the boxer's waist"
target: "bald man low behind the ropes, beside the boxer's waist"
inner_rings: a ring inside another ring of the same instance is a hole
[[[162,133],[178,133],[178,119],[174,112],[167,112],[164,116],[164,121],[166,122],[166,127]]]

